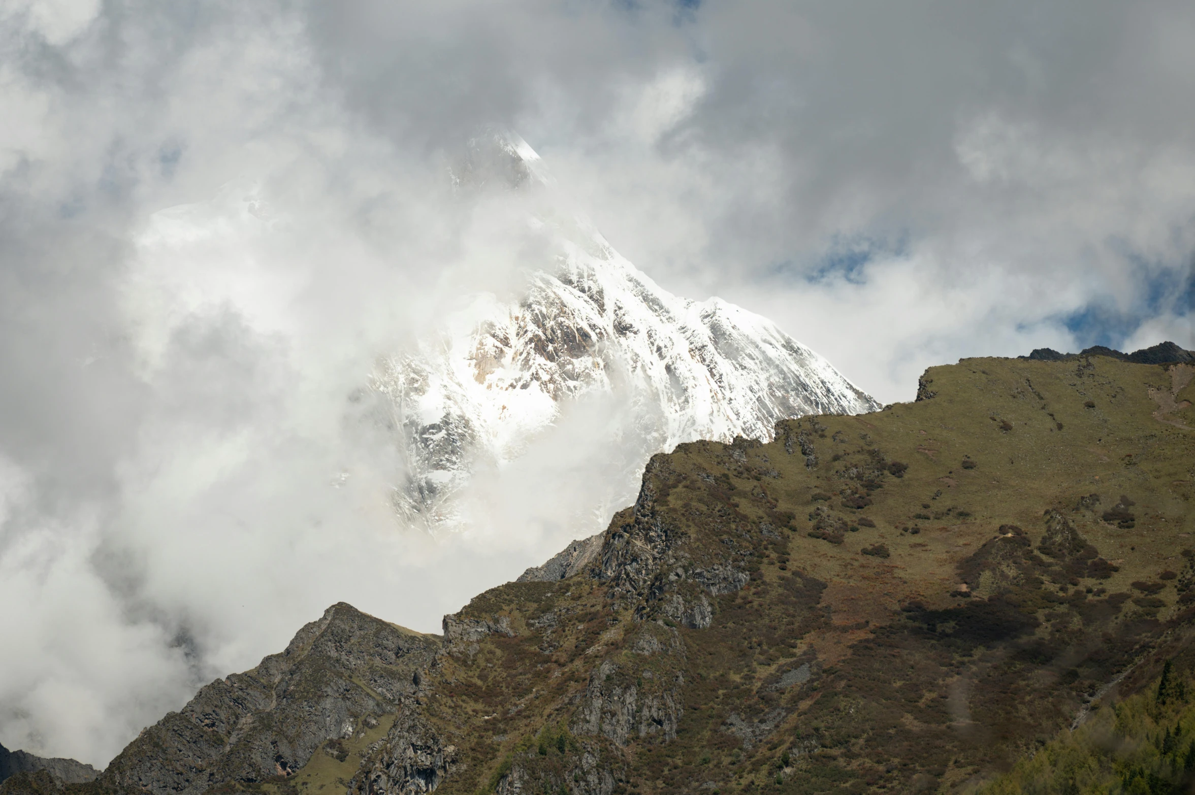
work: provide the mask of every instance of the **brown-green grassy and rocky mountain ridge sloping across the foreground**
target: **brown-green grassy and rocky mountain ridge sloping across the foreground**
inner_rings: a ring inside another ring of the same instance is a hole
[[[919,392],[656,455],[442,636],[333,605],[96,782],[0,795],[1091,791],[1047,785],[1064,751],[1171,791],[1195,368],[963,359]]]

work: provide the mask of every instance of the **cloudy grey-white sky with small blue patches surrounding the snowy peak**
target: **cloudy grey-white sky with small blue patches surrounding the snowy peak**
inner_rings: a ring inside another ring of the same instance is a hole
[[[519,292],[517,208],[447,178],[478,130],[891,402],[960,357],[1195,349],[1193,95],[1189,2],[2,0],[0,742],[104,765],[333,602],[434,631],[564,546],[514,499],[396,528],[353,399]]]

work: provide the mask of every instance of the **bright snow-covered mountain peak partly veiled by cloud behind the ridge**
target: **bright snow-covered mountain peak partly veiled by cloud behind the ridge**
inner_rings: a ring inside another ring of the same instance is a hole
[[[547,190],[521,140],[476,141],[461,184]],[[784,418],[880,405],[771,321],[719,298],[676,297],[587,222],[529,220],[554,254],[517,303],[478,296],[468,322],[382,362],[373,386],[393,405],[407,472],[394,506],[429,530],[456,524],[454,495],[479,466],[509,466],[570,402],[613,395],[632,435],[627,473],[695,439],[770,440]],[[608,517],[602,517],[606,520]]]

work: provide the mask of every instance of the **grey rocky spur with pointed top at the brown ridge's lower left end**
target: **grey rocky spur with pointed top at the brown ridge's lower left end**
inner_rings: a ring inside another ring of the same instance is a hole
[[[142,732],[100,783],[166,795],[288,777],[325,741],[351,738],[415,698],[439,648],[436,637],[333,605],[283,653],[213,682]]]

